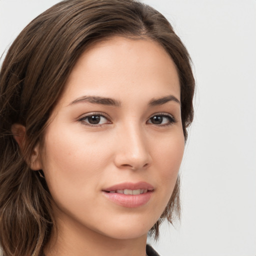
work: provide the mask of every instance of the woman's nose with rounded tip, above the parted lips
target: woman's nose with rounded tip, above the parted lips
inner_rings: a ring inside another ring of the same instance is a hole
[[[149,144],[143,130],[129,125],[119,133],[114,162],[118,168],[144,169],[151,165]]]

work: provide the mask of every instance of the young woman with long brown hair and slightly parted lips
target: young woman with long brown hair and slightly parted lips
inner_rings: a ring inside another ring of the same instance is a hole
[[[31,21],[0,73],[3,254],[156,255],[193,91],[184,45],[147,5],[64,0]]]

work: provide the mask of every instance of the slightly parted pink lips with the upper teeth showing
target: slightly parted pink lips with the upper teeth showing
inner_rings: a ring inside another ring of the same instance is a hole
[[[121,183],[102,190],[104,196],[111,202],[123,207],[135,208],[146,204],[152,195],[154,187],[146,182]]]

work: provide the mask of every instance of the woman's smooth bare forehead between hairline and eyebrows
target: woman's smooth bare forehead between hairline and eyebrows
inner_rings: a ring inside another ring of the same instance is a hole
[[[68,103],[95,93],[117,99],[169,93],[180,99],[179,87],[176,66],[158,42],[116,36],[91,44],[81,54],[60,100]]]

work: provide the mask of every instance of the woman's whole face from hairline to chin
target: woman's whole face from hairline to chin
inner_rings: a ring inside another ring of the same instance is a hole
[[[83,52],[45,131],[40,157],[55,216],[112,238],[145,235],[183,155],[175,65],[149,39],[114,37]]]

